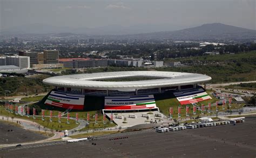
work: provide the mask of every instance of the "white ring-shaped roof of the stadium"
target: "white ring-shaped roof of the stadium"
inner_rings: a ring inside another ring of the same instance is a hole
[[[160,79],[127,82],[95,81],[109,78],[124,77],[157,77]],[[55,76],[44,79],[43,83],[57,87],[81,89],[83,88],[98,90],[135,90],[203,83],[210,81],[211,79],[212,78],[207,75],[178,73],[170,71],[117,71],[107,73]]]

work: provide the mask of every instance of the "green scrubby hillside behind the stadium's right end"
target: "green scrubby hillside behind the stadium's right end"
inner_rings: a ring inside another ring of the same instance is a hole
[[[157,70],[206,74],[212,77],[210,83],[254,81],[256,76],[256,51],[194,56],[166,61],[180,61],[187,66],[157,68]]]

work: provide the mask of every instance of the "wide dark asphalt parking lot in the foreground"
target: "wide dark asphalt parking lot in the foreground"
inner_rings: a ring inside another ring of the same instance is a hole
[[[93,142],[58,142],[6,148],[0,150],[0,156],[255,157],[255,132],[256,117],[251,117],[235,126],[228,124],[164,133],[157,133],[152,129],[105,135]]]

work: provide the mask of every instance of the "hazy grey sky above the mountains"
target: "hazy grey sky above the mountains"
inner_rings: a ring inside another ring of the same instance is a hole
[[[77,1],[0,0],[0,26],[68,27],[224,23],[256,30],[256,0]]]

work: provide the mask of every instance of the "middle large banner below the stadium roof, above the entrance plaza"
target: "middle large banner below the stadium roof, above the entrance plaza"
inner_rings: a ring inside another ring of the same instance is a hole
[[[139,110],[156,108],[154,95],[145,96],[106,96],[106,110]]]

